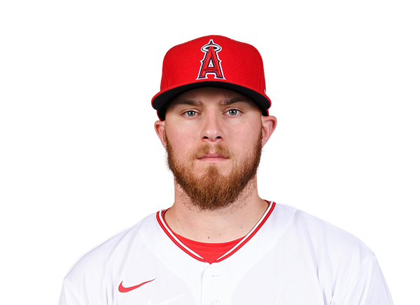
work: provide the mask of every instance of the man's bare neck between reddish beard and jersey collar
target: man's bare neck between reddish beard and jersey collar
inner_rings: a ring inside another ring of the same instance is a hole
[[[267,210],[267,201],[258,196],[255,179],[250,181],[230,206],[203,211],[191,204],[179,185],[175,201],[165,213],[165,220],[176,234],[203,243],[224,243],[248,234]]]

